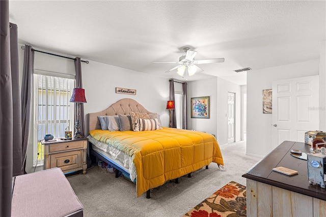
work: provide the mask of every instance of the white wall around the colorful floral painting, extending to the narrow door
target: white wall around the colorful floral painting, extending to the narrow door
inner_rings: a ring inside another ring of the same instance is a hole
[[[191,118],[188,105],[188,129],[216,135],[220,145],[228,143],[228,92],[235,93],[235,141],[241,139],[241,87],[219,77],[188,83],[188,102],[192,97],[210,96],[210,118]]]

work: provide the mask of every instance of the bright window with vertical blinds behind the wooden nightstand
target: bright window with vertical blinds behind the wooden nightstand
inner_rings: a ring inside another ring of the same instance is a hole
[[[34,74],[34,159],[33,165],[42,164],[44,147],[40,141],[45,134],[64,138],[65,129],[74,123],[74,103],[70,97],[75,79]]]

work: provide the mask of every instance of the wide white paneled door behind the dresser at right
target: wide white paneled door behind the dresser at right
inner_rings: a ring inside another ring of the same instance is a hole
[[[273,82],[272,148],[319,128],[319,76]]]

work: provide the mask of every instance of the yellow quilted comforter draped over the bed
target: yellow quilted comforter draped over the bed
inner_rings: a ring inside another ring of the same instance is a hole
[[[213,135],[163,127],[151,131],[92,130],[92,137],[132,157],[137,172],[137,196],[165,181],[194,172],[210,162],[223,164]]]

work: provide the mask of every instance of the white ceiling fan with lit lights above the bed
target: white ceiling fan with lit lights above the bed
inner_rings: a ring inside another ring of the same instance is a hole
[[[169,62],[169,61],[154,61],[153,63],[178,63],[180,65],[166,71],[171,72],[175,69],[177,69],[177,74],[184,77],[187,77],[187,75],[192,76],[196,72],[202,72],[203,69],[196,66],[196,64],[206,64],[206,63],[223,63],[224,58],[218,58],[218,59],[207,59],[207,60],[195,60],[195,56],[197,51],[191,50],[189,47],[183,48],[185,55],[179,57],[178,62]]]

